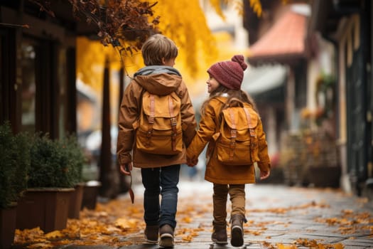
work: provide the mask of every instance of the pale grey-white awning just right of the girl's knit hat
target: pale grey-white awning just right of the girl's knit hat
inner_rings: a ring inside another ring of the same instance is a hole
[[[249,95],[257,96],[281,88],[286,80],[286,66],[261,65],[249,67],[244,71],[242,90]]]

